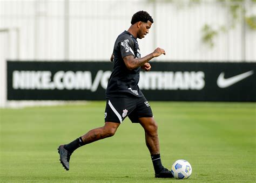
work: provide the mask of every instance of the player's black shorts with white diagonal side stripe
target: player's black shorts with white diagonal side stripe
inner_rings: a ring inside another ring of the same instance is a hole
[[[140,117],[153,117],[149,102],[143,97],[107,97],[105,122],[122,123],[126,117],[139,123]]]

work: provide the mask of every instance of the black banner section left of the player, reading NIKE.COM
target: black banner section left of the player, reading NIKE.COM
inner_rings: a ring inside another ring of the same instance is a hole
[[[8,61],[8,100],[105,100],[111,62]]]

